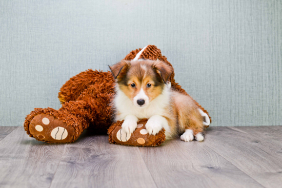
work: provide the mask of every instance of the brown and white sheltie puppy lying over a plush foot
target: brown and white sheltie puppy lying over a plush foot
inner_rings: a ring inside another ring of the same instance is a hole
[[[148,118],[151,135],[163,128],[166,138],[203,141],[204,124],[194,100],[170,88],[172,67],[160,60],[122,60],[110,67],[116,79],[115,121],[124,120],[122,133],[133,133],[139,119]]]

